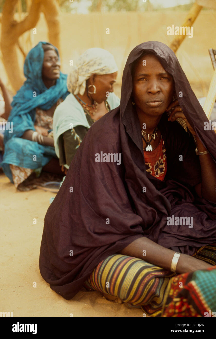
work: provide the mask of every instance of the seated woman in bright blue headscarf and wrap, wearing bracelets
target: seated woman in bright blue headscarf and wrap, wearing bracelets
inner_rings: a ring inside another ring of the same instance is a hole
[[[61,173],[52,138],[52,117],[69,94],[58,49],[50,43],[41,41],[30,50],[24,75],[27,80],[12,102],[2,162],[4,173],[20,191],[36,187],[33,182],[42,169]]]

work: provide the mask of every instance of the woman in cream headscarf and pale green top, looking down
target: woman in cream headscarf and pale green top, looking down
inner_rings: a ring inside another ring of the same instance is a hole
[[[113,93],[118,67],[102,48],[89,48],[78,59],[67,78],[68,95],[53,116],[53,135],[60,165],[69,168],[89,127],[117,107]]]

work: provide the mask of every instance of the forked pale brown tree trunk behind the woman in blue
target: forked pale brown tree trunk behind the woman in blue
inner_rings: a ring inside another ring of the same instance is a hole
[[[18,0],[5,0],[2,9],[2,33],[0,41],[5,71],[15,91],[18,91],[25,81],[23,71],[18,63],[18,49],[20,48],[23,55],[24,50],[18,39],[24,32],[35,28],[40,18],[41,10],[44,12],[47,21],[49,42],[60,49],[59,5],[57,1],[32,0],[29,14],[20,22],[14,20],[17,2]]]

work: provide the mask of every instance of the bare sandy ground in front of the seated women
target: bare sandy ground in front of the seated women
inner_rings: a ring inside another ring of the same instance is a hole
[[[16,192],[4,174],[0,192],[1,312],[13,312],[14,317],[143,317],[141,309],[108,301],[100,292],[80,291],[65,300],[52,291],[40,275],[39,252],[44,216],[55,193]]]

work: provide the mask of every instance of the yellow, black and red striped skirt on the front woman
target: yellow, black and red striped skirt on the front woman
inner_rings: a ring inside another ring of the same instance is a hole
[[[215,265],[215,244],[201,247],[194,257]],[[112,296],[118,302],[142,306],[146,315],[158,317],[169,296],[170,280],[176,276],[142,259],[113,254],[95,267],[83,287]]]

